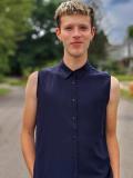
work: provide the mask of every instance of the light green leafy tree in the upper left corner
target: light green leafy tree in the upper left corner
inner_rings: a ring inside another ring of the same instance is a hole
[[[9,58],[14,55],[17,42],[30,29],[32,0],[0,1],[0,72],[8,72]]]

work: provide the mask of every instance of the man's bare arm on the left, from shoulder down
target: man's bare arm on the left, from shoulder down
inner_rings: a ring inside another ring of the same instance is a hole
[[[33,176],[35,157],[34,128],[37,111],[37,82],[38,71],[31,73],[27,82],[21,129],[21,149],[31,178]]]

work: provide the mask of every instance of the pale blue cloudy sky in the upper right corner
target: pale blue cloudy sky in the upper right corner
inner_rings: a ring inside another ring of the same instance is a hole
[[[133,0],[101,0],[103,19],[101,27],[112,44],[126,38],[126,29],[133,24]]]

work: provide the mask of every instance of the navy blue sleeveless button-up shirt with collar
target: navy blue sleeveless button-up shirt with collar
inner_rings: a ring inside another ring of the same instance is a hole
[[[111,76],[61,60],[39,71],[33,178],[113,178],[105,139]]]

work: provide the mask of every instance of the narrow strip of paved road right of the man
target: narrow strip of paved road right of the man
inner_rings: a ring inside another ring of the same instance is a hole
[[[121,178],[133,178],[133,101],[119,106],[117,136],[121,154]]]

